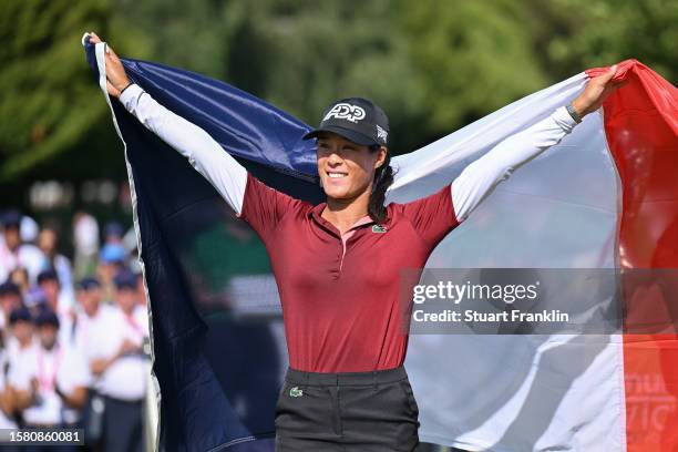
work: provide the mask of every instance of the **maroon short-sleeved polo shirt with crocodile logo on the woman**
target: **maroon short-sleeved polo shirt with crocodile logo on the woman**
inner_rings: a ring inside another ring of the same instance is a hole
[[[435,245],[459,225],[450,185],[412,203],[391,203],[383,225],[363,219],[343,237],[320,216],[325,206],[247,175],[240,217],[268,250],[289,366],[311,372],[399,367],[408,345],[400,270],[423,268]]]

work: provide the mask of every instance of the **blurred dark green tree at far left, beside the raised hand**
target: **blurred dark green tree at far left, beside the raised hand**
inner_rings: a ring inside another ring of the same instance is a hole
[[[0,9],[0,181],[82,144],[110,120],[80,38],[113,23],[107,1],[11,0]],[[121,42],[121,48],[127,48]],[[136,49],[135,53],[143,53]]]

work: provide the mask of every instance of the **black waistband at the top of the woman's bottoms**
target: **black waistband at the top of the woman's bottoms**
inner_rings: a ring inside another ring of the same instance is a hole
[[[306,372],[287,368],[285,380],[296,384],[312,386],[353,386],[392,383],[408,378],[404,367],[371,370],[367,372]]]

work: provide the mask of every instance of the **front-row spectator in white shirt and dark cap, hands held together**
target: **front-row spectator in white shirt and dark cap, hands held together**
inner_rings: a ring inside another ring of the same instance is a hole
[[[16,391],[16,407],[23,411],[27,428],[76,428],[90,382],[86,362],[73,347],[59,342],[55,312],[43,310],[35,325],[37,346],[11,368],[8,377]]]

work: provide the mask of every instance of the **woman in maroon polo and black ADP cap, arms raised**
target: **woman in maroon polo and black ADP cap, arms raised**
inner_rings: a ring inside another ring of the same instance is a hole
[[[305,136],[317,140],[327,195],[312,206],[264,185],[205,131],[131,83],[110,48],[105,59],[109,94],[186,156],[266,245],[290,362],[276,408],[280,451],[415,449],[400,269],[422,268],[499,182],[559,142],[617,85],[613,66],[572,105],[505,140],[438,193],[386,207],[393,179],[387,115],[364,99],[335,102]]]

